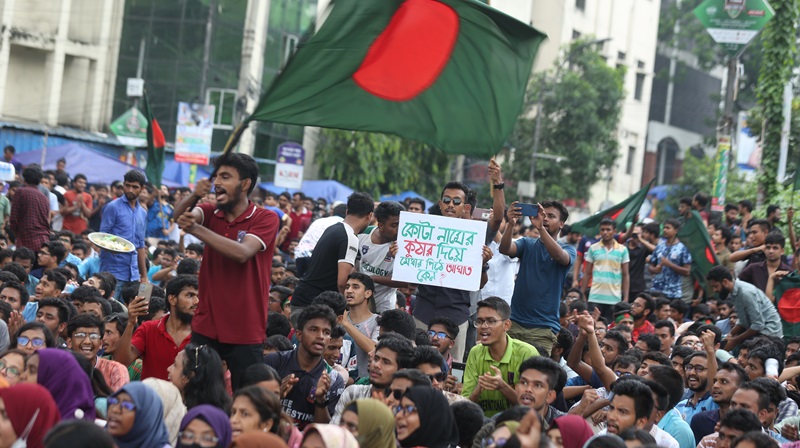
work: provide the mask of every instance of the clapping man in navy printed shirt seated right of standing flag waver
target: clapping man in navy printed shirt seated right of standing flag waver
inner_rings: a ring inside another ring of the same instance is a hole
[[[311,305],[303,309],[297,322],[297,348],[270,353],[263,359],[264,364],[274,368],[283,378],[283,410],[302,430],[309,423],[331,421],[344,381],[323,359],[336,325],[333,310],[326,305]]]

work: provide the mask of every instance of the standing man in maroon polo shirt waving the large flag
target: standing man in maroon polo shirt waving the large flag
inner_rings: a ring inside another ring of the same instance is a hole
[[[194,197],[175,207],[175,216],[181,229],[205,243],[192,342],[208,344],[220,354],[236,389],[247,367],[264,362],[272,254],[280,219],[248,199],[258,177],[252,157],[230,153],[215,159],[214,165],[216,206],[206,203],[189,210],[211,191],[211,181],[202,179]]]

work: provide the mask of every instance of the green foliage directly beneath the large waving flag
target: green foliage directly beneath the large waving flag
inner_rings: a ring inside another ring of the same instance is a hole
[[[373,198],[414,190],[436,199],[449,179],[452,157],[421,143],[371,132],[322,129],[316,162],[320,175]]]

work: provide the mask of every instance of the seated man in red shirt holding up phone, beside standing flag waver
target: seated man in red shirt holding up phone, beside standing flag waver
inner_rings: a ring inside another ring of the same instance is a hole
[[[197,277],[179,275],[167,284],[170,313],[159,320],[143,323],[134,334],[136,321],[147,316],[149,303],[136,297],[128,307],[128,324],[114,351],[114,358],[131,365],[142,358],[142,379],[167,379],[167,367],[189,343],[192,336],[192,317],[198,304]]]

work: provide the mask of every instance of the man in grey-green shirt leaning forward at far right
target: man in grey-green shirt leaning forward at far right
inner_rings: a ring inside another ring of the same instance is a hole
[[[719,294],[720,299],[730,297],[738,317],[736,325],[723,339],[720,345],[722,349],[733,350],[742,341],[760,334],[783,337],[778,311],[760,289],[750,283],[734,280],[731,271],[725,266],[711,268],[706,280],[711,289]]]

